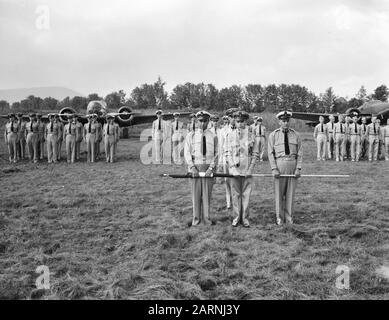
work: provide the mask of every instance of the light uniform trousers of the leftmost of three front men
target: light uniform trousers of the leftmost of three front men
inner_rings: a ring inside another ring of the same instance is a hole
[[[200,222],[211,224],[209,217],[211,207],[211,195],[214,179],[194,178],[191,179],[192,185],[192,203],[193,219],[192,225],[198,225]]]

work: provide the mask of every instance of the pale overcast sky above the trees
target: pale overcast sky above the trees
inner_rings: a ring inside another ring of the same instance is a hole
[[[2,89],[105,95],[158,75],[168,90],[190,81],[370,92],[389,85],[389,1],[0,0]]]

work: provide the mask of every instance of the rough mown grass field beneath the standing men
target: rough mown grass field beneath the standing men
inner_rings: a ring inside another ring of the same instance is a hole
[[[9,165],[2,141],[0,299],[388,299],[388,163],[316,162],[312,134],[302,138],[303,173],[351,177],[300,179],[285,227],[272,179],[256,180],[250,229],[230,226],[222,184],[216,225],[188,227],[189,182],[158,176],[184,167],[143,165],[139,139],[120,141],[117,163],[71,165]],[[35,288],[39,265],[49,290]]]

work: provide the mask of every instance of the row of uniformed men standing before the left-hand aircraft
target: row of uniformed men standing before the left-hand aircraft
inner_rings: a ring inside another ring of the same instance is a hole
[[[41,115],[29,115],[29,121],[23,120],[22,114],[9,114],[5,125],[4,140],[8,147],[9,161],[28,159],[34,163],[44,159],[44,146],[47,146],[48,163],[61,160],[62,142],[65,143],[66,160],[74,163],[80,160],[81,142],[87,150],[87,161],[95,162],[100,155],[100,143],[104,141],[106,162],[114,162],[119,141],[119,125],[114,117],[108,115],[102,126],[97,121],[97,114],[88,115],[88,122],[82,124],[76,115],[69,117],[64,124],[58,114],[49,114],[49,123],[42,121]],[[27,148],[27,154],[26,154]]]

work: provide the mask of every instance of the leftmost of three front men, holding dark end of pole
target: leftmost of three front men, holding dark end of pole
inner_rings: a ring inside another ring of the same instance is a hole
[[[208,177],[212,176],[217,164],[217,137],[211,130],[207,129],[210,116],[206,111],[197,112],[196,118],[199,122],[199,128],[188,133],[184,145],[184,158],[193,177],[191,179],[193,226],[201,222],[206,225],[212,224],[209,209],[214,179],[195,178],[199,176],[199,173]]]

